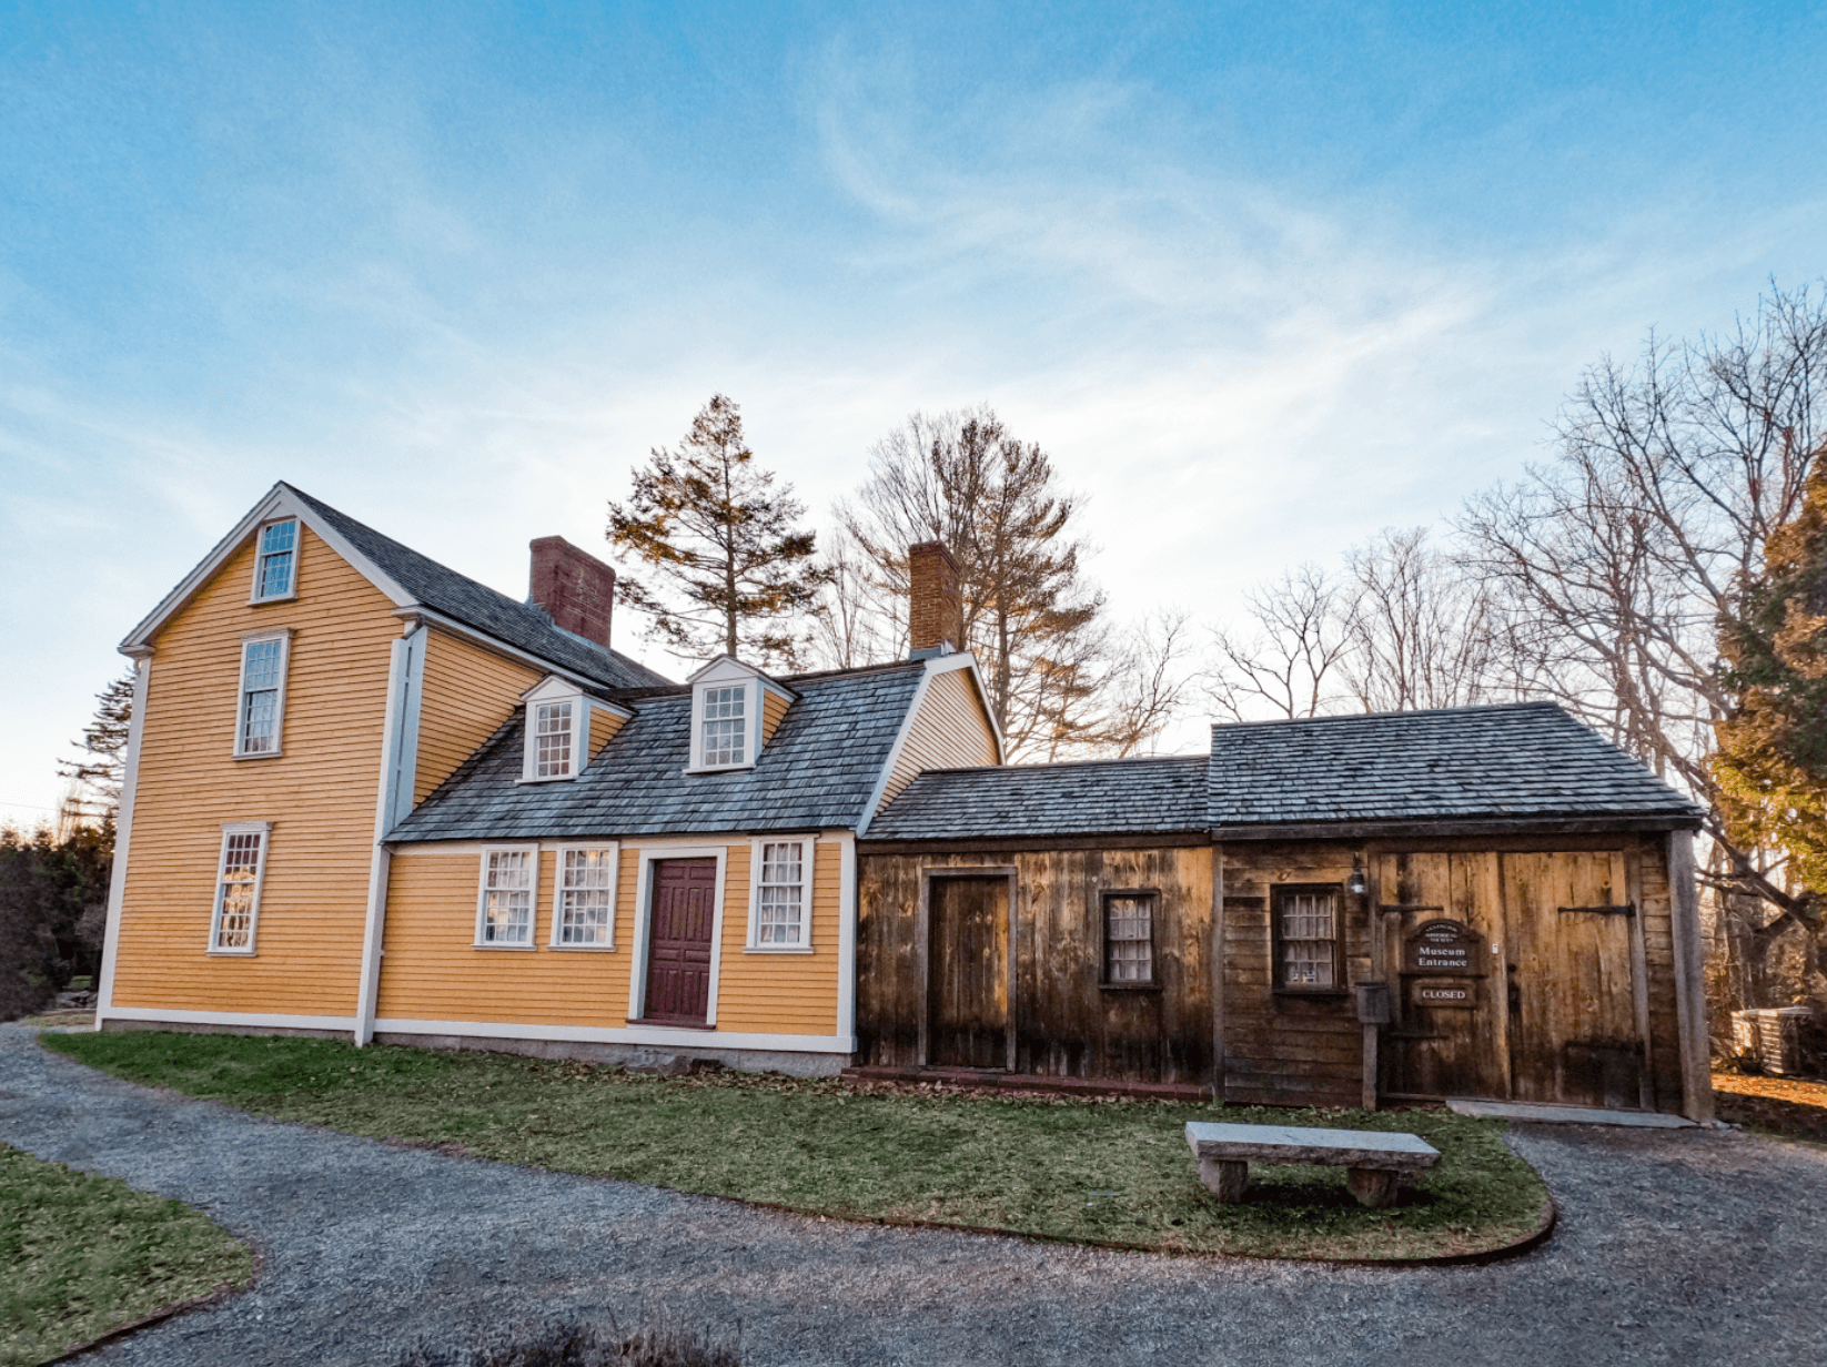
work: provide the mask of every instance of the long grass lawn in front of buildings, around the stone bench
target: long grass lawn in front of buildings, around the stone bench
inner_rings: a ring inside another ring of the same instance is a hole
[[[482,1053],[238,1034],[44,1034],[115,1076],[259,1115],[557,1171],[859,1219],[1275,1257],[1434,1257],[1507,1246],[1547,1192],[1504,1126],[1445,1111],[1288,1111],[985,1097],[778,1075],[641,1076]],[[1199,1182],[1186,1120],[1421,1135],[1440,1166],[1390,1210],[1337,1168]]]

